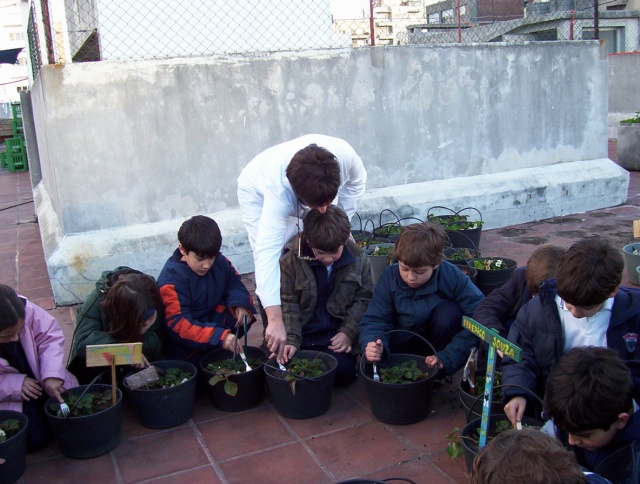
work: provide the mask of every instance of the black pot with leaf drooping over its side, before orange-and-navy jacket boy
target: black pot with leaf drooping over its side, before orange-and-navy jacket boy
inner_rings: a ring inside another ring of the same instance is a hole
[[[238,412],[253,408],[264,399],[263,361],[266,355],[262,349],[248,346],[245,356],[251,371],[246,371],[239,357],[234,362],[233,353],[224,349],[213,350],[200,360],[200,370],[207,380],[209,396],[214,407],[227,412]],[[212,384],[211,379],[216,377],[216,374],[221,378]]]

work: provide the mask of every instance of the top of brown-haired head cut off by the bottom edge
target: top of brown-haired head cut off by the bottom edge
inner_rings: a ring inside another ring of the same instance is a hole
[[[473,460],[471,484],[576,484],[587,478],[573,452],[536,429],[500,432]]]

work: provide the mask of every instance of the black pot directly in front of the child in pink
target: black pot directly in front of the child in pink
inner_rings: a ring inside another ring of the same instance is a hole
[[[102,384],[71,388],[64,400],[71,409],[69,418],[62,416],[55,397],[45,405],[45,413],[64,455],[88,459],[118,446],[122,433],[122,392],[119,388],[116,388],[115,405],[112,405],[111,385]]]

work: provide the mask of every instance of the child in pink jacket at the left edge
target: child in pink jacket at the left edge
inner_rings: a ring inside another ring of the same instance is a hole
[[[78,386],[64,367],[64,335],[44,309],[0,284],[0,409],[29,419],[27,451],[52,440],[44,405],[49,396]]]

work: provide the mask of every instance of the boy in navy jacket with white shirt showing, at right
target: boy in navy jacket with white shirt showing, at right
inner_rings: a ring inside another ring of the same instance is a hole
[[[546,379],[564,353],[578,346],[608,346],[623,360],[640,358],[640,292],[619,287],[624,261],[606,239],[587,237],[563,256],[556,278],[522,307],[509,341],[521,361],[502,362],[505,413],[515,427],[527,405],[526,390],[542,396]]]

